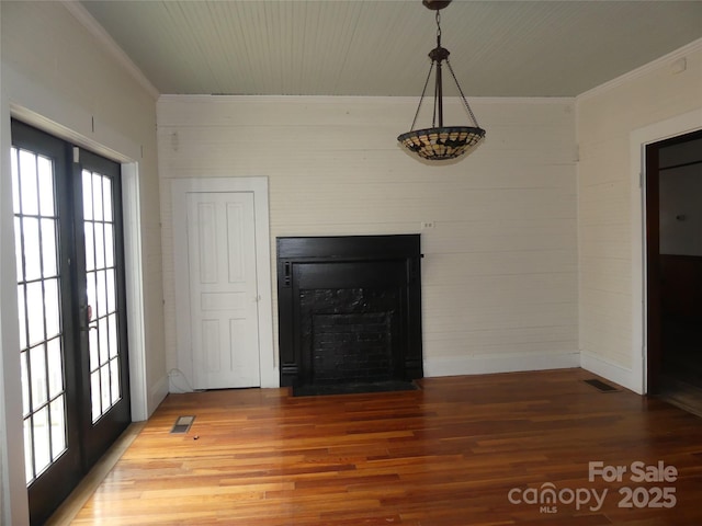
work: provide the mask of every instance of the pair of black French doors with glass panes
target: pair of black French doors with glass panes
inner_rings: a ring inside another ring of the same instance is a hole
[[[12,122],[25,474],[43,523],[131,422],[120,164]]]

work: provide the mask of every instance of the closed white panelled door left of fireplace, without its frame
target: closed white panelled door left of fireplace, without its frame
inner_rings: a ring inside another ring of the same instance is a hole
[[[193,387],[259,387],[252,192],[186,197]]]

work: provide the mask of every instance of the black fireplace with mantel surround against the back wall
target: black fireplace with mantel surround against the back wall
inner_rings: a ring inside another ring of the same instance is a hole
[[[281,386],[422,377],[419,235],[276,245]]]

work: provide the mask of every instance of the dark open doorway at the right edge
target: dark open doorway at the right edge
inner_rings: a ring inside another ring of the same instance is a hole
[[[648,392],[702,412],[702,130],[646,147]]]

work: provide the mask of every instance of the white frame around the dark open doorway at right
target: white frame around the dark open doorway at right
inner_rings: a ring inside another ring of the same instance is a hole
[[[702,108],[654,123],[630,134],[632,225],[632,369],[616,380],[648,393],[648,298],[646,243],[646,146],[702,129]]]

